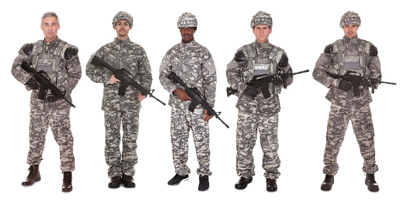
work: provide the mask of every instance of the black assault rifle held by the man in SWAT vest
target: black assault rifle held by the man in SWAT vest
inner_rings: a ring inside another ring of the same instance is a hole
[[[271,94],[268,91],[268,83],[273,81],[273,77],[275,77],[275,76],[282,77],[284,80],[284,88],[288,88],[288,84],[286,84],[286,79],[288,77],[297,75],[300,73],[307,73],[310,70],[299,71],[297,73],[289,73],[289,71],[290,71],[290,69],[288,70],[288,73],[279,73],[278,75],[272,75],[272,76],[260,75],[258,77],[253,78],[253,80],[251,80],[251,82],[248,82],[247,84],[249,84],[251,86],[261,87],[262,94],[264,95],[264,98],[266,99],[271,96]],[[238,91],[235,90],[234,88],[231,88],[230,86],[226,87],[226,94],[228,95],[228,97],[230,95],[234,95],[235,93],[238,93]]]

